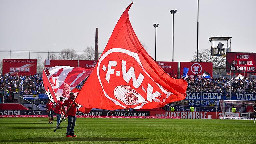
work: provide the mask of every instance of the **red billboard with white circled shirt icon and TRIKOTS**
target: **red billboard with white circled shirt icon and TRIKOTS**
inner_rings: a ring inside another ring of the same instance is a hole
[[[189,78],[201,78],[204,71],[208,72],[212,77],[212,63],[210,62],[180,62],[180,75],[182,77],[183,68],[188,68],[187,77]]]

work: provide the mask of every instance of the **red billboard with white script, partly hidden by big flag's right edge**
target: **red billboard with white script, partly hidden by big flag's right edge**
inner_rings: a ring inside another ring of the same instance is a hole
[[[178,76],[179,62],[157,62],[157,64],[170,76]]]

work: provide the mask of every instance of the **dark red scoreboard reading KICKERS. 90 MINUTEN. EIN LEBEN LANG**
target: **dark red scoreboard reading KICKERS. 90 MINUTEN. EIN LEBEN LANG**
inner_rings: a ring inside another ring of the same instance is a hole
[[[256,53],[227,53],[226,65],[226,72],[256,73]]]

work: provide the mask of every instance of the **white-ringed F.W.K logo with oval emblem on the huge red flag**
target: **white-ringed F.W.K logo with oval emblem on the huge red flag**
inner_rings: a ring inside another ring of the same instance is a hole
[[[119,55],[120,59],[109,60],[115,55]],[[108,58],[105,59],[106,57]],[[122,107],[126,107],[123,106],[125,104],[141,108],[147,103],[141,95],[147,95],[146,99],[149,102],[165,102],[166,98],[172,94],[151,79],[143,68],[137,53],[123,48],[112,48],[100,57],[97,75],[105,96]],[[144,78],[146,81],[143,81]],[[103,86],[104,81],[107,83]],[[115,81],[126,85],[119,85]],[[110,92],[114,93],[118,100],[115,100],[113,95],[108,95]],[[161,96],[165,98],[159,99]]]

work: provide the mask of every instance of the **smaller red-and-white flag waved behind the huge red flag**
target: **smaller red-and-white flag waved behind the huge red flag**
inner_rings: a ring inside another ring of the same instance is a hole
[[[86,79],[91,72],[92,69],[56,66],[49,69],[50,74],[47,76],[45,70],[43,70],[43,83],[49,99],[56,103],[61,96],[64,97],[63,102],[69,99],[71,92],[77,96],[80,90],[75,87]],[[83,113],[89,113],[91,109],[79,105],[78,110]]]

